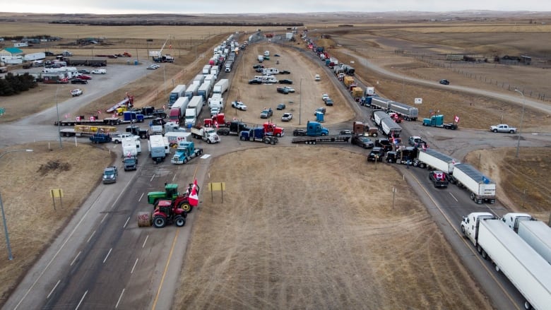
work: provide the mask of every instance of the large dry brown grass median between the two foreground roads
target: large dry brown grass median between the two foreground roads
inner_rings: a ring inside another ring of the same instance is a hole
[[[219,157],[210,174],[224,203],[201,207],[179,309],[490,308],[392,166],[272,147]]]

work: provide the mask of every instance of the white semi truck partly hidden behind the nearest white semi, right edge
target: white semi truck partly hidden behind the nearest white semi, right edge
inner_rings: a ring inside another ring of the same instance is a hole
[[[502,221],[551,264],[551,227],[526,213],[507,213]]]

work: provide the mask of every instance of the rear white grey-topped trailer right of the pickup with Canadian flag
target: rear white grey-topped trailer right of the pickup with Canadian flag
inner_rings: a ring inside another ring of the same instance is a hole
[[[495,203],[495,182],[471,165],[456,164],[452,183],[466,187],[470,191],[470,198],[475,203],[484,201]]]

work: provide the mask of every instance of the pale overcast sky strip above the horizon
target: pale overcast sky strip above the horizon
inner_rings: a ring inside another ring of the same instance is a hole
[[[551,11],[545,0],[3,0],[1,12],[18,13],[313,13],[389,11]]]

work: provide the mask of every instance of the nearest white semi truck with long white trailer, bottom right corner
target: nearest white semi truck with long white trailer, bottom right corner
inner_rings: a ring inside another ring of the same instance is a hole
[[[461,232],[519,290],[525,309],[549,308],[551,265],[502,220],[491,213],[470,213],[461,221]]]

